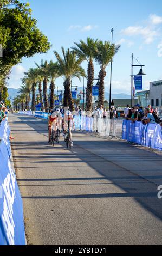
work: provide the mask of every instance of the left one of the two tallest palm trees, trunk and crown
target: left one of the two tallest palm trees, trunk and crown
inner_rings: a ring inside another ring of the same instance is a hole
[[[77,56],[82,57],[88,62],[87,70],[87,90],[86,90],[86,111],[92,111],[92,86],[94,81],[94,53],[98,40],[87,38],[87,42],[80,40],[80,43],[74,42],[77,47],[72,49],[77,53]]]

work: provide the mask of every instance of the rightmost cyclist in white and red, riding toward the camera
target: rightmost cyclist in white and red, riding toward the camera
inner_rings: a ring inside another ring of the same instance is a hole
[[[72,127],[75,129],[74,118],[73,118],[73,115],[71,114],[71,112],[68,110],[64,113],[63,130],[64,130],[64,134],[69,130],[71,146],[73,146]]]

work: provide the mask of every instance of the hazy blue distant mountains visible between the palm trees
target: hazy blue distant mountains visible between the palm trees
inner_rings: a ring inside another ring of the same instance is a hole
[[[78,92],[80,93],[80,90],[83,90],[82,87],[77,88]],[[14,88],[8,88],[8,93],[9,93],[9,99],[13,101],[13,99],[17,96],[18,94],[18,89]],[[49,93],[49,90],[48,90]],[[55,94],[57,92],[55,91]],[[36,94],[38,94],[38,90],[36,90]],[[105,98],[106,100],[109,100],[109,93],[105,92]],[[125,94],[125,93],[119,93],[119,94],[112,94],[112,99],[131,99],[131,95]]]

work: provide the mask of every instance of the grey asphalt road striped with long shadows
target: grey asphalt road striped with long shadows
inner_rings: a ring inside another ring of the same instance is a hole
[[[48,145],[47,121],[10,114],[28,244],[161,244],[161,154],[73,133]]]

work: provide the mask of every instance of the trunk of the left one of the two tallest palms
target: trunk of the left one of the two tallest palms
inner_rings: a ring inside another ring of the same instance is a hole
[[[92,86],[94,80],[94,65],[93,62],[88,63],[88,80],[87,80],[87,90],[86,90],[86,111],[92,111]]]

